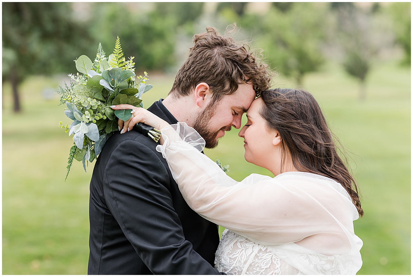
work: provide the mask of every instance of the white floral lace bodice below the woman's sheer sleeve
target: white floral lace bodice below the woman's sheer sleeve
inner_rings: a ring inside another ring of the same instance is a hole
[[[215,267],[228,275],[302,275],[275,256],[265,245],[257,244],[228,229],[215,254]]]

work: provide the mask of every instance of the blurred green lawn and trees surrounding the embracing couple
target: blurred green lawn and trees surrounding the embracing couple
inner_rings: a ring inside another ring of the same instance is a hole
[[[2,3],[2,273],[86,274],[88,172],[67,181],[70,123],[52,90],[73,60],[111,53],[116,36],[137,74],[166,97],[192,36],[207,26],[236,37],[279,73],[273,86],[316,97],[347,149],[361,188],[361,275],[411,274],[411,4],[290,2]],[[206,150],[231,177],[270,172],[247,163],[237,130]],[[221,230],[222,231],[222,230]]]

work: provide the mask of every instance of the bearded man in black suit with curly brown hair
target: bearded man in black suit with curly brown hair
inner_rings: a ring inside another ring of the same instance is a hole
[[[225,131],[241,127],[269,76],[249,48],[214,28],[194,43],[168,96],[148,110],[170,124],[186,122],[214,148]],[[90,181],[88,274],[221,274],[217,225],[185,203],[157,144],[127,129],[105,143]]]

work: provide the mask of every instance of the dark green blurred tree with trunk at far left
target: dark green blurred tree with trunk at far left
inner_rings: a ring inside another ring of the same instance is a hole
[[[2,77],[12,84],[14,112],[21,110],[18,86],[28,74],[73,68],[90,42],[84,26],[70,15],[67,3],[2,3]]]

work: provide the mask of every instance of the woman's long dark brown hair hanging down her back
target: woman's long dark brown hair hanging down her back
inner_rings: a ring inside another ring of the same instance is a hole
[[[323,175],[340,183],[363,216],[356,180],[337,154],[337,146],[316,99],[308,91],[275,88],[261,92],[261,116],[281,136],[282,163],[291,154],[297,170]],[[337,140],[336,140],[337,141]]]

